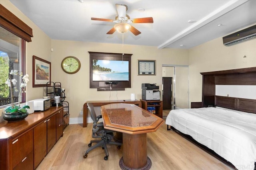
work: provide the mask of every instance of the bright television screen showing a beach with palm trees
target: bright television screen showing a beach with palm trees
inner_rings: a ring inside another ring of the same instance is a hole
[[[92,60],[92,81],[129,81],[129,62]]]

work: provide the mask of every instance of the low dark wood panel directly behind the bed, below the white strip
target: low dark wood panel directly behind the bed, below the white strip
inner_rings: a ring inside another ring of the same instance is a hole
[[[256,100],[253,99],[215,96],[215,106],[256,113]]]

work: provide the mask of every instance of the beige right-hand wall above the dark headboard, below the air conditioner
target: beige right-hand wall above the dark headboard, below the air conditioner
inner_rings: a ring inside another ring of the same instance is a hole
[[[200,72],[255,66],[256,39],[226,47],[223,45],[222,37],[219,37],[189,49],[190,102],[202,101],[202,75]]]

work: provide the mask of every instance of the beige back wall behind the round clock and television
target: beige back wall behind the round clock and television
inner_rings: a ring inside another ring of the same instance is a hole
[[[188,50],[158,49],[157,47],[91,43],[80,41],[52,40],[52,79],[61,82],[65,88],[66,101],[70,104],[70,117],[82,117],[80,111],[83,104],[90,100],[129,100],[134,93],[137,100],[141,99],[142,83],[156,83],[162,89],[162,64],[188,64]],[[129,53],[132,55],[132,86],[124,91],[97,91],[89,88],[89,53]],[[61,68],[61,61],[67,56],[77,57],[81,62],[80,70],[75,74],[67,74]],[[156,76],[138,76],[137,60],[156,60]],[[161,90],[160,89],[160,90]]]

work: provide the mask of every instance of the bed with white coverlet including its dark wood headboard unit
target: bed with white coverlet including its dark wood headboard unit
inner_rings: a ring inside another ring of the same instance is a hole
[[[171,110],[167,129],[170,125],[238,170],[256,170],[256,99],[216,95],[216,85],[255,86],[256,67],[201,74],[202,102]]]

